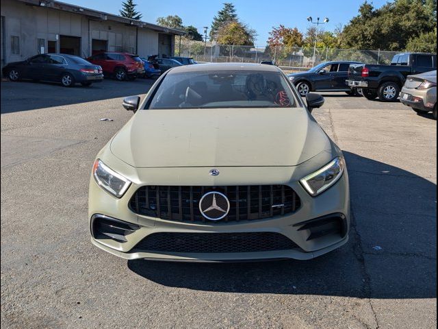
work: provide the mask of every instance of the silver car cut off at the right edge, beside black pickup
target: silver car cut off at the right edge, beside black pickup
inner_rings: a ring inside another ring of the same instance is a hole
[[[400,101],[417,113],[433,112],[437,119],[437,71],[409,75],[402,88]]]

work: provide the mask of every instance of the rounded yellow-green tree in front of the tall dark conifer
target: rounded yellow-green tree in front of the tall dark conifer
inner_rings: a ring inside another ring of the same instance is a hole
[[[217,41],[220,45],[253,46],[256,33],[248,26],[232,21],[222,25],[217,32]]]

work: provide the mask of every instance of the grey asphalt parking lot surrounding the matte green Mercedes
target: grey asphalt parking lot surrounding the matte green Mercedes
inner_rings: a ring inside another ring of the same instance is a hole
[[[436,327],[437,123],[398,102],[333,93],[314,112],[350,173],[350,241],[335,252],[192,264],[93,247],[92,161],[132,115],[122,98],[152,83],[1,83],[1,326]]]

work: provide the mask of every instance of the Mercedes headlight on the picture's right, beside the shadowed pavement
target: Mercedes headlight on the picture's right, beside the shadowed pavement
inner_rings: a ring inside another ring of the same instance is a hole
[[[315,197],[335,184],[335,182],[342,177],[344,169],[344,158],[335,158],[335,160],[327,164],[325,167],[315,171],[315,173],[311,173],[305,178],[302,178],[300,183],[311,196]]]

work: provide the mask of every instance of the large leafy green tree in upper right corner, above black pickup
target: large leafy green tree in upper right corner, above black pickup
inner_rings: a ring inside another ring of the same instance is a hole
[[[404,51],[408,42],[437,26],[437,0],[395,0],[375,9],[365,1],[342,31],[342,45],[354,49]],[[414,42],[414,41],[412,41]]]

